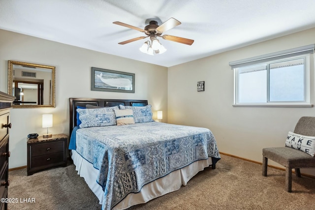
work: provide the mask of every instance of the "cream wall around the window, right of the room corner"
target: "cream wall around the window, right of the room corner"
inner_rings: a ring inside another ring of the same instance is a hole
[[[315,116],[315,108],[232,107],[234,78],[228,63],[314,43],[312,29],[169,67],[168,122],[207,127],[221,152],[262,162],[262,148],[284,146],[288,131],[300,117]],[[205,81],[204,92],[197,92],[198,81]],[[315,170],[301,172],[315,175]]]

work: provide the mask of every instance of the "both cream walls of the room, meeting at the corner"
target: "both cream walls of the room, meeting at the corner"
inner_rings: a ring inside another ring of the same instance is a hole
[[[167,69],[0,30],[0,91],[7,92],[7,60],[56,66],[56,108],[11,110],[9,167],[26,165],[29,133],[46,132],[41,114],[54,114],[52,133],[68,134],[69,97],[148,99],[153,111],[163,110],[163,122],[210,128],[221,152],[261,162],[262,148],[284,146],[287,132],[301,116],[315,116],[315,108],[232,107],[228,62],[314,43],[315,29],[306,30]],[[91,91],[92,66],[135,73],[135,93]],[[311,78],[314,104],[314,71]],[[198,81],[205,81],[205,91],[197,92]]]

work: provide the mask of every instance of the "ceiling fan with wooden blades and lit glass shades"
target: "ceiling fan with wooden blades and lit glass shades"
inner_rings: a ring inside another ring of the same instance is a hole
[[[139,36],[137,38],[133,38],[133,39],[129,39],[129,40],[126,40],[123,42],[119,42],[118,44],[127,44],[127,43],[130,43],[133,41],[137,41],[140,39],[150,37],[151,43],[149,41],[147,41],[140,48],[141,52],[147,53],[149,55],[153,55],[153,52],[161,54],[161,53],[166,51],[166,49],[159,43],[157,37],[162,37],[165,40],[179,42],[179,43],[187,44],[187,45],[191,45],[194,41],[192,39],[187,39],[187,38],[183,38],[183,37],[179,37],[179,36],[162,35],[162,33],[165,32],[166,30],[170,30],[170,29],[181,24],[181,22],[179,22],[175,18],[168,19],[167,21],[162,23],[160,26],[158,26],[157,21],[154,21],[154,20],[150,21],[149,25],[147,25],[144,29],[140,29],[138,27],[134,27],[134,26],[128,25],[126,23],[122,23],[122,22],[118,22],[118,21],[113,22],[113,24],[124,26],[124,27],[127,27],[129,29],[133,29],[133,30],[138,30],[140,32],[144,32],[147,35],[147,36]]]

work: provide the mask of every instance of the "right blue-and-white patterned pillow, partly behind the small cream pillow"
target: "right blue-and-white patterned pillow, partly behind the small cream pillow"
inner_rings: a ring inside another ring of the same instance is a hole
[[[135,123],[139,122],[152,122],[152,111],[151,105],[147,106],[124,106],[119,105],[119,108],[124,109],[131,109],[133,111],[133,119]]]

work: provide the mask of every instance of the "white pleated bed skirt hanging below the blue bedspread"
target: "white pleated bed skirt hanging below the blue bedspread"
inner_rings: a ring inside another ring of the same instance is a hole
[[[102,205],[104,191],[96,182],[98,170],[93,167],[93,164],[82,158],[82,156],[75,150],[71,151],[71,158],[76,166],[75,170],[78,171],[80,177],[84,178],[88,186],[98,198],[99,204]],[[139,193],[128,194],[126,198],[113,208],[113,210],[124,210],[137,204],[146,203],[167,193],[174,192],[181,188],[182,185],[186,185],[193,176],[209,165],[212,165],[211,158],[193,162],[182,169],[173,171],[165,177],[144,185]]]

